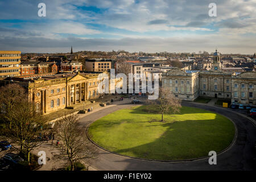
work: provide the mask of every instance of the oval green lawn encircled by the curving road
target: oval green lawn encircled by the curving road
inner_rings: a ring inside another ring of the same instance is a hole
[[[195,107],[180,114],[165,114],[148,106],[122,109],[89,127],[89,136],[100,146],[119,154],[145,159],[191,159],[221,151],[234,137],[234,126],[222,115]]]

